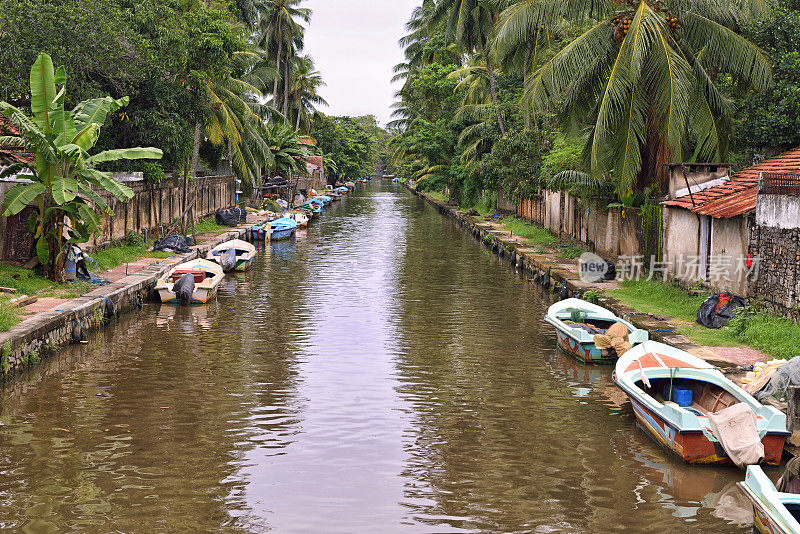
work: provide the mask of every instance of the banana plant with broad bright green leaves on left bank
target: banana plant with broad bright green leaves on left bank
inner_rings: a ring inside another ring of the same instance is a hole
[[[114,215],[98,190],[123,202],[133,197],[129,187],[98,166],[118,160],[160,159],[162,152],[157,148],[125,148],[90,155],[109,114],[127,106],[128,97],[95,98],[67,110],[66,73],[63,67],[54,69],[45,53],[39,54],[31,68],[30,85],[32,116],[0,102],[0,112],[20,132],[18,136],[0,137],[0,146],[24,146],[36,155],[34,164],[18,163],[0,173],[0,178],[18,173],[30,178],[30,183],[17,184],[6,193],[0,210],[10,217],[31,203],[36,205],[36,213],[28,220],[36,254],[43,274],[60,280],[64,245],[88,241],[100,232],[102,216]]]

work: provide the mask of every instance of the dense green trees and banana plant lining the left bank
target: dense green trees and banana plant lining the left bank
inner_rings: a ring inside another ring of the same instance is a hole
[[[113,215],[90,185],[120,199],[132,194],[111,172],[139,171],[154,182],[182,176],[188,206],[201,170],[232,168],[245,197],[260,197],[264,177],[292,183],[312,155],[336,178],[371,175],[385,162],[390,136],[374,117],[319,111],[325,83],[303,52],[312,11],[302,4],[0,0],[0,111],[14,128],[0,132],[0,143],[35,153],[35,162],[6,174],[36,182],[6,195],[3,213],[37,201],[46,277],[63,273],[53,221],[66,216],[67,241],[80,243]],[[44,75],[29,76],[34,65]],[[64,120],[50,124],[49,114]],[[55,151],[42,143],[51,133]]]

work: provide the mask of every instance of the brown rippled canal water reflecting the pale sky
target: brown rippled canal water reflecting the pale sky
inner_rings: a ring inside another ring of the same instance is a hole
[[[0,529],[746,532],[548,302],[399,186],[262,248],[216,302],[146,305],[6,385]]]

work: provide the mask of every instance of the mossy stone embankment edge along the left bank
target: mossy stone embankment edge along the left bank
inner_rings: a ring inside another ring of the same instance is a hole
[[[231,228],[213,241],[193,247],[192,252],[98,287],[0,333],[0,376],[10,379],[61,347],[78,342],[81,336],[103,327],[120,313],[140,308],[150,298],[156,281],[173,266],[205,257],[211,248],[230,239],[244,239],[252,226]]]

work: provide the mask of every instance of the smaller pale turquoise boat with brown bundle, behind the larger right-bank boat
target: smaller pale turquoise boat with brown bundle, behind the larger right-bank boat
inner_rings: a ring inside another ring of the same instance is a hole
[[[615,327],[612,333],[615,330],[627,331],[626,341],[631,346],[648,339],[646,330],[636,328],[602,306],[581,299],[570,298],[556,302],[547,310],[544,320],[555,327],[558,346],[584,363],[603,364],[616,361],[616,349],[598,347],[595,341],[595,336],[605,336],[615,324],[624,328]]]

